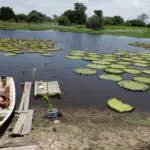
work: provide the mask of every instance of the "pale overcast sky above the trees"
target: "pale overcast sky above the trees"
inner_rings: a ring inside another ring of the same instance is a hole
[[[73,9],[75,2],[84,2],[88,16],[94,9],[103,10],[104,16],[120,15],[124,19],[137,18],[141,13],[150,16],[150,0],[0,0],[0,6],[10,6],[17,14],[38,10],[52,16]]]

